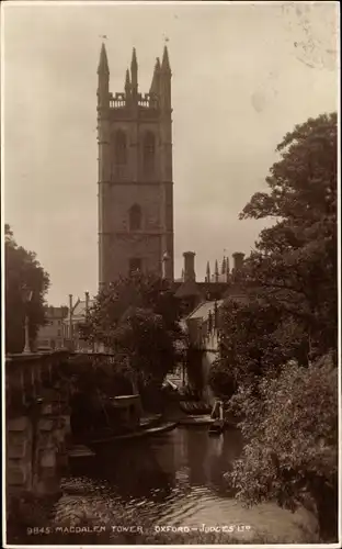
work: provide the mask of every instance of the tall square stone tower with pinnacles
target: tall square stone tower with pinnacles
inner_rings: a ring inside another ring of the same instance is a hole
[[[110,92],[104,44],[98,68],[99,282],[133,271],[173,280],[171,69],[167,47],[149,93],[133,51],[124,91]]]

